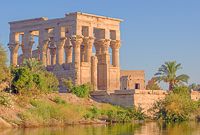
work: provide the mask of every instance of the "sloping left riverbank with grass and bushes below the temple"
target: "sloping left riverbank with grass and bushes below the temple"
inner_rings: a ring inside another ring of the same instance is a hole
[[[6,83],[0,92],[0,118],[8,126],[39,127],[67,124],[113,123],[144,120],[140,108],[122,108],[90,99],[91,86],[73,85],[62,79],[67,94],[59,94],[59,81],[37,60],[24,60],[18,67],[6,66],[1,49],[0,78]]]

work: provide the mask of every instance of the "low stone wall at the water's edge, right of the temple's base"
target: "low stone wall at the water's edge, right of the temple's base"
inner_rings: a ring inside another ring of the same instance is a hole
[[[123,107],[137,106],[147,111],[152,105],[166,96],[164,90],[116,90],[114,93],[95,91],[91,96],[98,102],[111,103]]]

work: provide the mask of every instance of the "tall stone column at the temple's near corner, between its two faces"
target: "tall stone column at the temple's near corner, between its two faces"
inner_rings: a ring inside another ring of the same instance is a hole
[[[75,77],[74,77],[74,84],[79,85],[80,84],[80,46],[83,42],[82,36],[79,35],[73,35],[71,37],[71,42],[73,46],[73,64],[74,64],[74,71],[75,71]]]

